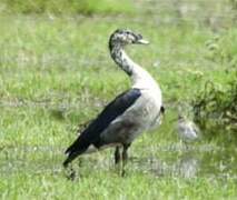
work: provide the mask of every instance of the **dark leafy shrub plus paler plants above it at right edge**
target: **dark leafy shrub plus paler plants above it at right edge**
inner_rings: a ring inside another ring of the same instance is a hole
[[[237,131],[237,32],[229,30],[206,42],[207,59],[225,70],[219,80],[207,80],[204,89],[194,99],[196,121],[209,137],[217,137],[217,129],[236,141]],[[228,81],[227,81],[228,80]],[[219,136],[218,136],[219,137]],[[229,137],[227,137],[229,138]]]

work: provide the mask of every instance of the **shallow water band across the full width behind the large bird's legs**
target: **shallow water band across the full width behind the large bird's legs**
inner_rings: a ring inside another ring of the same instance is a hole
[[[152,156],[129,158],[127,171],[147,173],[154,177],[177,178],[221,178],[237,180],[237,154],[236,149],[217,148],[215,146],[190,146],[180,143],[154,147],[148,151]],[[112,152],[112,150],[111,150]],[[156,152],[156,153],[154,153]],[[1,148],[0,171],[1,174],[51,173],[62,172],[62,148],[50,147],[24,147]],[[82,157],[80,167],[83,169],[111,170],[115,168],[112,154],[105,157],[103,152]],[[156,156],[155,156],[156,154]],[[157,156],[158,154],[158,156]],[[78,161],[75,161],[75,166]]]

